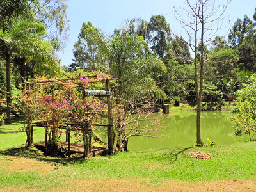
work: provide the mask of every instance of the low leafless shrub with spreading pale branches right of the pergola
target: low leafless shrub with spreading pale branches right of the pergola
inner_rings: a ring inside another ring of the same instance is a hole
[[[131,102],[131,100],[116,100],[113,106],[114,140],[116,148],[128,151],[128,140],[131,136],[160,138],[164,136],[165,127],[161,122],[166,119],[164,115],[153,114],[156,112],[155,102]],[[168,118],[168,117],[167,117]]]

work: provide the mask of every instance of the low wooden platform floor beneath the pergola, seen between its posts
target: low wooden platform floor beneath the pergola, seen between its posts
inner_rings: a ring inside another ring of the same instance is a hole
[[[68,148],[67,142],[61,142],[61,145],[63,147]],[[41,143],[34,143],[34,146],[38,148],[38,150],[42,150],[44,152],[45,150],[45,142]],[[70,154],[83,154],[84,153],[84,146],[79,143],[70,143]],[[106,147],[95,147],[92,146],[92,156],[106,156],[108,153],[108,148]]]

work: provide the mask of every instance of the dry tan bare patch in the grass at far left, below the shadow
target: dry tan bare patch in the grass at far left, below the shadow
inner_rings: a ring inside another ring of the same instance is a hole
[[[0,165],[8,172],[28,172],[38,171],[40,173],[49,173],[54,170],[53,163],[45,163],[37,159],[29,159],[24,157],[8,157],[0,161]]]

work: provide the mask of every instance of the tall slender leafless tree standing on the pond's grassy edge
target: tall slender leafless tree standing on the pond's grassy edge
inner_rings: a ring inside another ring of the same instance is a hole
[[[225,4],[217,4],[215,0],[186,0],[187,7],[174,9],[175,18],[179,20],[186,37],[180,40],[188,44],[195,54],[193,61],[195,65],[195,88],[196,88],[196,143],[202,146],[201,141],[201,100],[203,92],[203,81],[205,74],[205,63],[211,56],[207,55],[206,48],[212,45],[214,37],[220,29],[225,26],[223,14],[231,0]],[[175,35],[177,38],[179,36]]]

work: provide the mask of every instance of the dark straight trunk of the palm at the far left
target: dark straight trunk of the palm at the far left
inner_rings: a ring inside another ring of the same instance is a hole
[[[6,91],[11,93],[11,63],[10,63],[10,53],[7,51],[5,55],[5,63],[6,63]],[[11,124],[11,95],[7,95],[6,98],[7,103],[7,119],[6,124]]]

